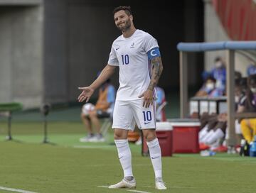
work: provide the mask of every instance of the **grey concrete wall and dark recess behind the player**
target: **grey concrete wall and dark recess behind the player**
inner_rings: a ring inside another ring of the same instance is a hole
[[[122,1],[132,6],[137,28],[158,41],[164,62],[159,85],[178,88],[180,41],[203,40],[201,1]],[[26,109],[43,102],[76,101],[79,86],[88,85],[107,64],[112,41],[120,35],[112,9],[119,1],[0,0],[0,102],[19,101]],[[154,14],[151,14],[154,13]],[[198,18],[200,20],[198,20]],[[201,56],[191,64],[203,67]],[[191,65],[190,84],[198,68]],[[118,72],[112,82],[118,87]],[[4,92],[3,92],[4,91]],[[93,96],[96,97],[97,93]]]

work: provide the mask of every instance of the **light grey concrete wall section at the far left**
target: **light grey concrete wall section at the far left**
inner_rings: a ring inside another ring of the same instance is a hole
[[[1,102],[22,101],[31,108],[43,100],[42,18],[41,6],[0,1]]]

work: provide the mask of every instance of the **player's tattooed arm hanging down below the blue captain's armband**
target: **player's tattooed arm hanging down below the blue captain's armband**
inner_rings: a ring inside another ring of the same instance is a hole
[[[144,97],[143,106],[149,107],[150,104],[153,104],[153,92],[154,87],[156,87],[156,84],[159,82],[159,78],[161,76],[161,72],[163,71],[163,64],[161,62],[161,57],[154,57],[151,59],[151,66],[152,66],[152,75],[151,75],[151,81],[149,83],[149,87],[147,88],[146,92],[144,92],[142,95],[139,96],[139,98]]]

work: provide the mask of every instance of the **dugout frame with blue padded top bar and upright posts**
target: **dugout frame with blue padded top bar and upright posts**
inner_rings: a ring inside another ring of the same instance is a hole
[[[178,43],[180,57],[180,110],[181,118],[188,114],[188,53],[226,50],[227,101],[228,101],[228,146],[235,146],[235,118],[256,117],[256,113],[235,114],[235,52],[256,50],[256,41],[222,41],[213,43]]]

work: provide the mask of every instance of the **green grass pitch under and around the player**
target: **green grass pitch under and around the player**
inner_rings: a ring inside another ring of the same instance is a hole
[[[61,113],[63,114],[63,112]],[[0,123],[0,192],[76,193],[129,192],[131,189],[107,189],[122,179],[122,168],[113,145],[112,131],[105,143],[80,143],[85,135],[78,120],[51,120],[49,144],[43,144],[43,123],[21,121],[12,124],[14,140],[6,141],[6,121]],[[64,116],[64,115],[63,115]],[[56,116],[58,117],[58,116]],[[60,116],[61,117],[61,116]],[[77,116],[74,116],[77,117]],[[53,118],[54,119],[54,118]],[[141,147],[130,144],[137,192],[157,192],[151,161],[142,157]],[[174,154],[163,158],[164,181],[161,192],[217,193],[255,192],[256,159],[239,155]],[[6,189],[11,188],[11,189]],[[12,190],[12,191],[11,191]],[[160,192],[160,191],[158,191]]]

